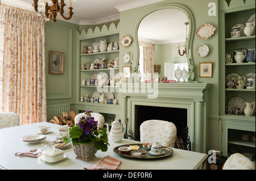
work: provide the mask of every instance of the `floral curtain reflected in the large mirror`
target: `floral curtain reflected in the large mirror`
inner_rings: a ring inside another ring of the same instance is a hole
[[[155,45],[143,44],[143,72],[150,74],[151,80],[154,77],[154,56]]]

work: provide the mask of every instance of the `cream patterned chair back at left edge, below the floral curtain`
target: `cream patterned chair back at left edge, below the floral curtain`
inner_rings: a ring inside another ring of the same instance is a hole
[[[15,112],[0,112],[0,129],[19,125],[19,115]]]

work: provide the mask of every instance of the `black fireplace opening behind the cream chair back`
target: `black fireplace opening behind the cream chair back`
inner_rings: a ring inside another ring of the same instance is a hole
[[[163,120],[175,124],[177,137],[183,136],[182,131],[187,128],[187,109],[172,107],[155,107],[135,105],[135,129],[140,140],[140,125],[146,120]]]

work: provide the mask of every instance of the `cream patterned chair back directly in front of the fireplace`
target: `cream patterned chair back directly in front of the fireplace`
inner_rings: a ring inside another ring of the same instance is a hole
[[[163,120],[147,120],[140,126],[141,142],[174,148],[177,129],[174,123]]]

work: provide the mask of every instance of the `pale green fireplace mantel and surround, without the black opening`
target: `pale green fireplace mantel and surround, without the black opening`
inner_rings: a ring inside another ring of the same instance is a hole
[[[128,118],[127,129],[134,131],[135,105],[185,108],[192,151],[206,153],[210,86],[209,83],[122,83],[121,120]],[[156,91],[157,97],[152,97]]]

